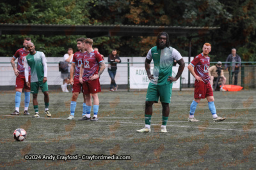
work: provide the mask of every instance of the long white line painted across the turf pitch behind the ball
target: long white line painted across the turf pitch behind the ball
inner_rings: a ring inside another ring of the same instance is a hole
[[[14,115],[1,115],[1,116],[6,116],[6,117],[28,117],[28,116],[14,116]],[[30,118],[30,117],[29,117]],[[45,117],[40,117],[40,118],[45,118]],[[36,119],[36,118],[35,118]],[[45,119],[54,119],[54,120],[67,120],[64,118],[45,118]],[[68,120],[70,121],[70,120]],[[79,121],[79,120],[75,120]],[[80,121],[85,121],[85,120],[80,120]],[[106,120],[97,120],[97,122],[107,122],[107,123],[115,123],[118,120],[115,121],[106,121]],[[168,121],[169,122],[169,121]],[[170,121],[171,122],[171,121]],[[172,122],[177,122],[177,121],[172,121]],[[188,121],[178,121],[178,122],[188,122]],[[145,125],[145,124],[140,124],[140,123],[134,123],[134,122],[118,122],[120,124],[136,124],[136,125]],[[222,124],[223,122],[221,122]],[[239,124],[237,122],[237,124]],[[247,123],[248,124],[248,123]],[[159,124],[151,124],[151,125],[159,125]],[[212,130],[221,130],[221,131],[244,131],[243,129],[221,129],[221,128],[212,128],[212,127],[191,127],[191,126],[183,126],[183,125],[166,125],[168,127],[185,127],[185,128],[194,128],[194,129],[212,129]],[[256,132],[256,131],[244,131],[244,132]]]

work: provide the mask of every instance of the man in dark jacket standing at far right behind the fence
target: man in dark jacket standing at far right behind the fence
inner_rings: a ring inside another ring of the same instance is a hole
[[[227,69],[227,67],[228,67],[228,71],[232,72],[232,77],[231,77],[232,81],[233,81],[233,77],[235,74],[234,85],[237,85],[237,77],[238,77],[238,73],[239,73],[239,67],[241,66],[241,58],[239,55],[237,55],[236,48],[233,48],[231,50],[231,53],[230,53],[230,55],[228,55],[226,62],[239,62],[239,63],[232,63],[232,66],[230,66],[230,64],[228,64],[228,63],[225,64],[225,69]]]

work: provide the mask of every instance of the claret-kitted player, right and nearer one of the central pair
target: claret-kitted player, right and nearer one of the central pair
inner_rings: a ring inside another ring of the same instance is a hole
[[[86,96],[86,117],[79,120],[97,121],[99,111],[98,92],[101,92],[99,77],[103,73],[106,66],[100,53],[93,50],[92,45],[92,39],[86,38],[84,40],[84,49],[86,50],[86,54],[83,57],[83,62],[80,68],[79,81],[83,84],[83,93]],[[93,98],[93,118],[91,118],[91,98]]]

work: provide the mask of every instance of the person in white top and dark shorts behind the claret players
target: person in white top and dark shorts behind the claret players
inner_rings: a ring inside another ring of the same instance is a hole
[[[63,85],[61,85],[61,89],[63,92],[68,92],[67,85],[70,83],[70,67],[68,67],[68,63],[73,60],[73,49],[68,48],[68,53],[64,55],[64,63],[67,64],[67,69],[65,71],[61,71],[61,78],[63,79]]]

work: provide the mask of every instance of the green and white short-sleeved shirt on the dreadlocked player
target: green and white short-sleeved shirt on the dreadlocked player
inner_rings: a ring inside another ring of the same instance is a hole
[[[157,50],[157,46],[154,46],[148,51],[147,59],[154,61],[154,79],[150,82],[155,85],[167,85],[170,83],[167,81],[168,76],[172,76],[173,61],[182,59],[182,56],[172,46],[162,50]]]

